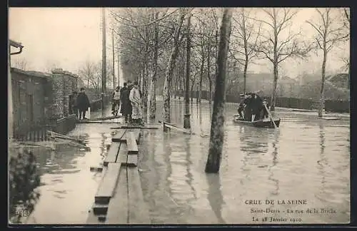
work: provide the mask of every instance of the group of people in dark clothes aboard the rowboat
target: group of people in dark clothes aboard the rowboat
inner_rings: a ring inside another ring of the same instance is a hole
[[[238,114],[241,119],[253,122],[268,118],[266,108],[269,108],[266,98],[261,100],[257,93],[241,94],[241,103],[238,106]]]

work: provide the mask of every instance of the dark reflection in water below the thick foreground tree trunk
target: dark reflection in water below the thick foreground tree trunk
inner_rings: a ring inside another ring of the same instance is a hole
[[[218,219],[219,224],[225,224],[225,220],[222,217],[222,207],[223,207],[223,195],[221,192],[221,179],[218,174],[210,173],[206,174],[207,184],[208,184],[208,201],[211,205],[214,214]]]

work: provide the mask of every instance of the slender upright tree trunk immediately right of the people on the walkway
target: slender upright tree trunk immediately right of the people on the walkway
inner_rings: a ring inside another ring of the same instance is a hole
[[[155,20],[159,19],[159,11],[155,12]],[[157,65],[158,65],[158,52],[159,52],[159,23],[156,22],[154,26],[154,73],[151,76],[150,83],[150,115],[149,118],[154,119],[156,115],[156,78],[157,78]]]

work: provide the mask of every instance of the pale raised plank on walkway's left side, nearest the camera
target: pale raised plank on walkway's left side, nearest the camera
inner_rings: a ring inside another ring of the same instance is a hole
[[[101,180],[94,201],[99,204],[108,204],[110,198],[114,195],[116,182],[119,177],[120,163],[109,163],[108,169]]]

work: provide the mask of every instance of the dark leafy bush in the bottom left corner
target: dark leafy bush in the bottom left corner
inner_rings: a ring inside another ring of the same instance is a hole
[[[32,152],[24,150],[10,158],[9,164],[9,210],[10,221],[20,223],[21,217],[28,217],[40,194],[36,188],[40,185],[40,175],[36,158]]]

